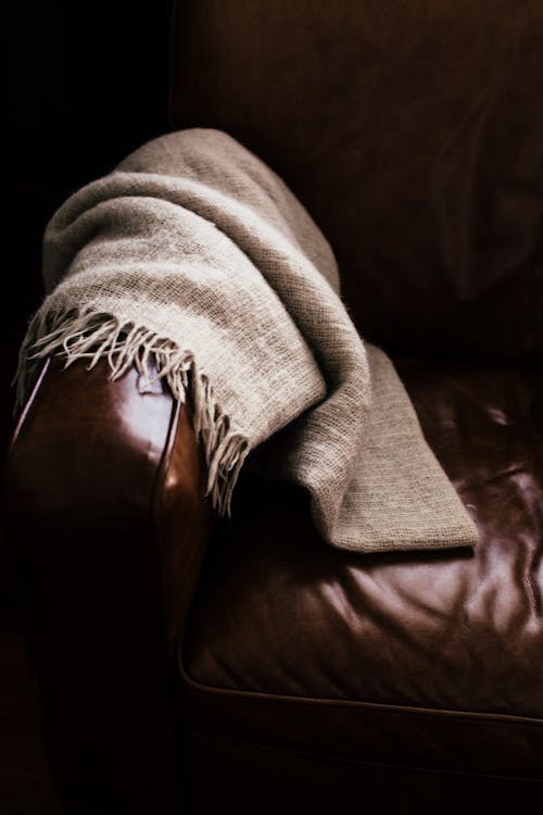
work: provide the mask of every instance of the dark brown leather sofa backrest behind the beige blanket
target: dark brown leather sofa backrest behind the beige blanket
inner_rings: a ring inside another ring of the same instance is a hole
[[[178,0],[171,126],[230,133],[391,353],[543,358],[543,3]]]

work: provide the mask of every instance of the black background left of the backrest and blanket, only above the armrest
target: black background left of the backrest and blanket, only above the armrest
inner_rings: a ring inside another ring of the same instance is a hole
[[[72,191],[167,129],[169,14],[169,0],[30,0],[17,3],[7,21],[3,440],[12,404],[7,381],[42,297],[49,217]]]

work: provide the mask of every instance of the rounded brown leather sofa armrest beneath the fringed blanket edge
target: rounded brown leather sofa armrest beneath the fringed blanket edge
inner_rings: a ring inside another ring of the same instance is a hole
[[[7,516],[66,811],[182,812],[173,666],[213,515],[189,409],[51,360],[14,435]]]

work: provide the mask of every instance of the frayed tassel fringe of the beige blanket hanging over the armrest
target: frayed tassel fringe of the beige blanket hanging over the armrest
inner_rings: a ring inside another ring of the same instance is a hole
[[[217,405],[213,388],[192,351],[182,350],[156,331],[112,314],[87,311],[40,311],[28,326],[20,351],[16,409],[22,408],[41,365],[50,355],[65,359],[64,367],[88,360],[90,371],[106,359],[110,379],[119,379],[132,365],[140,374],[140,392],[165,379],[174,399],[190,394],[194,430],[203,444],[207,466],[206,496],[219,515],[230,516],[233,488],[249,453],[249,439],[230,427]],[[190,385],[190,387],[189,387]]]

